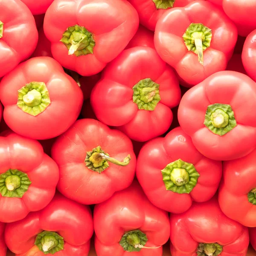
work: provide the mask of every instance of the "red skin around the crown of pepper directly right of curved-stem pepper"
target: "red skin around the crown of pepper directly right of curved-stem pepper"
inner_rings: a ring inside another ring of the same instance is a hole
[[[200,175],[189,194],[166,190],[163,182],[161,170],[178,159],[192,163]],[[137,160],[136,176],[148,199],[155,206],[173,213],[185,212],[193,201],[204,202],[212,198],[221,175],[221,162],[199,153],[191,138],[180,127],[164,138],[158,137],[146,143]]]

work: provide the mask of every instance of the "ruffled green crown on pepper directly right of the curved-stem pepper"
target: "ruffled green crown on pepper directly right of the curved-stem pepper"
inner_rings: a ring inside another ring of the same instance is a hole
[[[169,163],[161,172],[166,190],[178,194],[189,194],[200,176],[192,163],[184,162],[181,159]]]

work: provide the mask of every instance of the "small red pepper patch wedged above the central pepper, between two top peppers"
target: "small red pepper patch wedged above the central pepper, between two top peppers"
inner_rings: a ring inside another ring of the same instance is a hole
[[[154,32],[146,29],[140,25],[136,34],[131,39],[125,49],[129,49],[136,46],[147,46],[154,49]]]

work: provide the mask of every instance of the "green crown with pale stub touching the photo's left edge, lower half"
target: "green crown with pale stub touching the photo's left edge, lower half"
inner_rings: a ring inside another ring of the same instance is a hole
[[[26,173],[9,169],[0,175],[0,194],[10,198],[22,198],[31,181]]]

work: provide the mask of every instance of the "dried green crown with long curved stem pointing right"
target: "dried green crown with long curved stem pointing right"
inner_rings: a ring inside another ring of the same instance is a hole
[[[131,156],[128,155],[125,159],[120,162],[113,157],[110,157],[108,153],[103,151],[100,146],[93,148],[92,151],[86,152],[86,158],[84,160],[85,165],[88,169],[94,172],[103,172],[109,167],[109,163],[116,164],[118,166],[127,166],[130,163]]]

